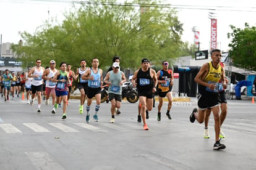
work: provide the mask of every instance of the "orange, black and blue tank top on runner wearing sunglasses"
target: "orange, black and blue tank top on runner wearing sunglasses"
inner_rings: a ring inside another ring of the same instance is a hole
[[[165,80],[166,83],[158,83],[158,89],[161,89],[162,92],[167,92],[171,90],[171,76],[173,75],[173,70],[168,69],[164,71],[160,70],[159,80]]]

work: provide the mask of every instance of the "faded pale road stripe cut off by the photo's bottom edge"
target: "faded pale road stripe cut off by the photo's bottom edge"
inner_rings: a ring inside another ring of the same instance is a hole
[[[35,169],[43,170],[65,170],[59,163],[54,161],[54,159],[46,152],[25,152]],[[32,168],[33,169],[33,168]]]

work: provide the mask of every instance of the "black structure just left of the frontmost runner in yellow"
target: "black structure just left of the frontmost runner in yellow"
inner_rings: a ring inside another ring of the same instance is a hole
[[[188,97],[197,96],[197,83],[194,78],[200,67],[174,65],[174,73],[179,73],[179,93],[187,94]]]

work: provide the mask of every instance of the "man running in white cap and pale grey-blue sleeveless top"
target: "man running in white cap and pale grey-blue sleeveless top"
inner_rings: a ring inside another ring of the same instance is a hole
[[[108,88],[108,99],[111,102],[111,120],[110,123],[114,123],[114,113],[116,112],[116,108],[119,110],[122,102],[122,84],[126,82],[126,76],[124,76],[124,72],[119,71],[119,63],[114,62],[113,70],[109,71],[104,79],[104,83],[109,85]]]

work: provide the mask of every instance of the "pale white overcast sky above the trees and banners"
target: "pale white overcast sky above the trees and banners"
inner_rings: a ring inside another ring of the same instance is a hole
[[[61,23],[64,12],[71,8],[70,2],[71,0],[0,0],[2,42],[17,44],[21,39],[19,32],[33,34],[49,18],[56,18]],[[211,23],[208,12],[213,11],[210,9],[214,9],[216,13],[218,49],[222,51],[229,49],[231,39],[228,39],[227,34],[232,32],[229,25],[243,29],[245,22],[250,26],[256,24],[256,1],[160,0],[160,3],[176,7],[179,21],[183,23],[182,41],[194,43],[192,28],[195,26],[200,31],[200,50],[210,49]]]

